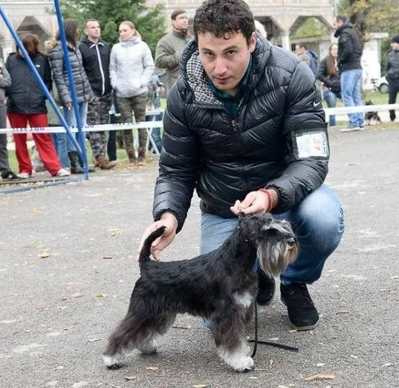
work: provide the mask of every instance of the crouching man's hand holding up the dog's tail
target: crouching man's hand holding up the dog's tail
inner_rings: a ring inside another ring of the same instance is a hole
[[[155,223],[149,225],[149,227],[145,229],[145,232],[141,237],[138,252],[141,252],[142,245],[144,245],[144,241],[145,239],[147,239],[149,234],[154,232],[159,227],[165,226],[165,232],[163,232],[162,236],[158,237],[158,239],[156,239],[151,245],[152,256],[154,257],[154,259],[160,260],[161,258],[159,257],[159,252],[161,252],[161,250],[163,250],[170,243],[172,243],[174,237],[176,236],[177,225],[177,219],[172,213],[163,213],[163,215],[161,216],[161,220],[155,221]]]

